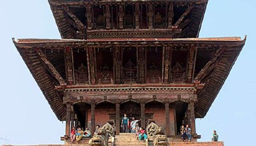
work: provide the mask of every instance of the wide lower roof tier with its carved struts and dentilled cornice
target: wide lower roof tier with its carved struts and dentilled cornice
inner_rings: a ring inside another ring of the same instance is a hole
[[[67,92],[171,98],[184,87],[198,89],[195,115],[203,118],[245,44],[239,37],[13,41],[59,120]]]

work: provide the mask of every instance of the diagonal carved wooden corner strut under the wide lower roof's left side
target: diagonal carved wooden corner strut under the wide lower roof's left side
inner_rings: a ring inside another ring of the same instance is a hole
[[[41,49],[35,49],[38,56],[41,60],[48,66],[51,71],[51,74],[56,78],[56,80],[60,83],[60,85],[65,85],[65,80],[61,77],[60,73],[57,71],[56,68],[52,65],[52,63],[47,59],[46,54]]]

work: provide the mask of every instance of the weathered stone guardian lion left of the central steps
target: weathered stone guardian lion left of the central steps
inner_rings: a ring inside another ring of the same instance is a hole
[[[114,128],[111,124],[106,123],[98,132],[94,133],[93,137],[89,140],[89,146],[108,146],[109,137],[113,137]]]

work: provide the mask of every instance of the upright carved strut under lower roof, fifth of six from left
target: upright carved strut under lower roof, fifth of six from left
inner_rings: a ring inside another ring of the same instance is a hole
[[[170,82],[170,72],[172,64],[172,47],[166,46],[163,48],[163,83],[168,84]]]

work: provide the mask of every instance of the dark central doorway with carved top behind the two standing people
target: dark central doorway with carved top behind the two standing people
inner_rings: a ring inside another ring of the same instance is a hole
[[[136,120],[139,120],[140,119],[140,104],[133,102],[133,101],[127,101],[120,105],[120,125],[122,123],[124,114],[127,115],[127,117],[129,118],[129,121],[132,120],[132,117],[134,117]],[[123,128],[120,128],[120,132],[124,132]]]

